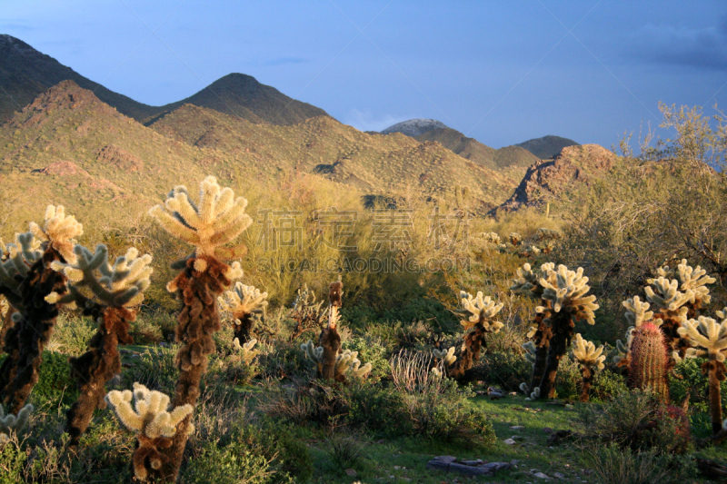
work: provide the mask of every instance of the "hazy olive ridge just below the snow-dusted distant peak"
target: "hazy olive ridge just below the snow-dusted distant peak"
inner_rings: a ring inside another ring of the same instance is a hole
[[[533,153],[519,146],[505,146],[495,150],[474,138],[468,138],[463,133],[452,128],[434,128],[414,136],[420,142],[437,142],[453,153],[459,154],[467,160],[481,163],[483,166],[502,172],[505,176],[518,183],[525,174],[527,167],[538,162]]]

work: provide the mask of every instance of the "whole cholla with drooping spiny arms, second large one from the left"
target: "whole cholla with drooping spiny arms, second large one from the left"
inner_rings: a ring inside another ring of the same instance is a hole
[[[88,343],[88,351],[71,358],[72,374],[80,393],[68,410],[67,430],[71,445],[76,445],[94,417],[95,409],[105,406],[105,384],[121,371],[119,343],[133,342],[129,324],[136,319],[144,290],[149,287],[152,256],[131,247],[114,265],[108,262],[108,249],[103,244],[91,253],[82,245],[74,248],[75,263],[53,262],[51,267],[68,278],[67,294],[52,292],[45,301],[71,302],[83,308],[98,323],[98,331]]]

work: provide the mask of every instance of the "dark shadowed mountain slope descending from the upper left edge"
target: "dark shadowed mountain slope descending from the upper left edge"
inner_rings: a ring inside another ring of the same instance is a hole
[[[45,93],[48,88],[65,80],[72,80],[93,91],[104,103],[134,119],[144,119],[157,112],[153,106],[137,103],[123,94],[109,91],[53,57],[41,54],[22,40],[11,35],[0,35],[0,123],[31,104],[35,97]]]

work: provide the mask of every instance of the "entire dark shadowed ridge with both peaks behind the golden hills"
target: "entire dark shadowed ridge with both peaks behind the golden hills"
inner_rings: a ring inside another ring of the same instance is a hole
[[[202,91],[172,104],[150,106],[117,94],[97,84],[53,57],[41,54],[10,35],[0,35],[0,123],[12,117],[35,97],[60,83],[71,80],[93,91],[105,104],[136,121],[152,123],[183,104],[208,107],[240,116],[254,123],[294,124],[327,115],[311,104],[295,101],[269,85],[245,74],[228,74]]]

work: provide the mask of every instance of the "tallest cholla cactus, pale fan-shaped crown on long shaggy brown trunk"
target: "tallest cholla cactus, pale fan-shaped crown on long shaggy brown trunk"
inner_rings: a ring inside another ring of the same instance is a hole
[[[220,330],[220,315],[216,300],[232,284],[242,277],[239,262],[232,266],[221,262],[245,253],[244,246],[232,249],[223,245],[234,241],[253,222],[244,212],[247,201],[234,197],[230,188],[221,189],[213,176],[201,183],[199,205],[194,204],[184,186],[177,186],[169,193],[163,205],[156,205],[153,215],[174,236],[194,245],[194,253],[175,267],[184,267],[167,290],[174,292],[182,301],[182,311],[177,320],[176,339],[182,343],[176,355],[180,370],[174,392],[174,406],[192,405],[199,396],[199,384],[207,368],[207,357],[214,351],[212,335]],[[172,444],[164,450],[169,457],[154,479],[174,481],[182,464],[184,445],[188,435],[190,417],[179,424]]]

